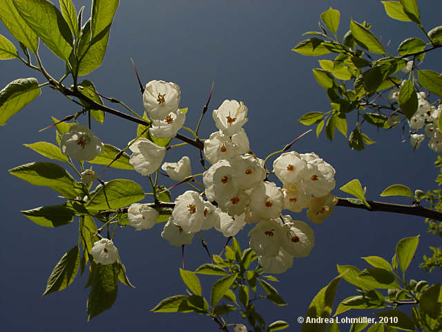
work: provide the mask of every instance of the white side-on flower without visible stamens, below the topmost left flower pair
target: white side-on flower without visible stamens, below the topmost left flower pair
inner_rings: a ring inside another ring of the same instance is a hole
[[[129,163],[142,175],[155,172],[166,154],[165,147],[159,147],[147,138],[138,138],[129,149],[133,152]]]

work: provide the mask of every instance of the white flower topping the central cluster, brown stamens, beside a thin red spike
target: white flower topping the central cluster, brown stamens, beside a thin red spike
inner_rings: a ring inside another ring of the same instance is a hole
[[[213,110],[213,120],[224,135],[233,136],[249,120],[247,107],[236,100],[224,100],[218,109]]]

